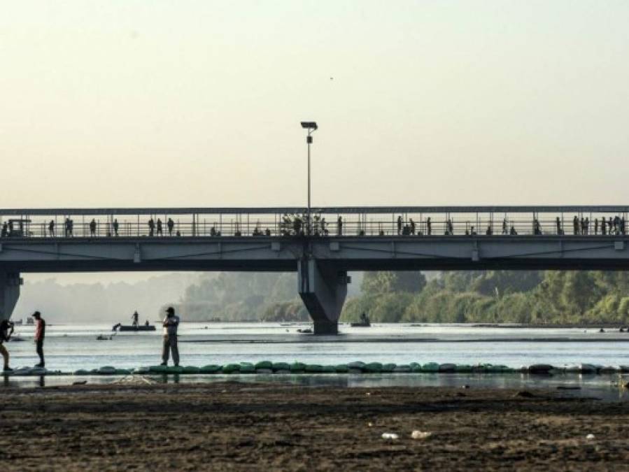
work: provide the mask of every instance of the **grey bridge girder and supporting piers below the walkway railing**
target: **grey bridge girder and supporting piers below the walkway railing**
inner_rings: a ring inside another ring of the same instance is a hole
[[[10,238],[0,243],[0,317],[24,272],[297,271],[318,334],[337,332],[348,271],[626,270],[626,236]]]

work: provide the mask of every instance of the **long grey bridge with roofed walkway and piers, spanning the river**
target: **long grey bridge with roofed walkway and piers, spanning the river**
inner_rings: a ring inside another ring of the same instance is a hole
[[[0,209],[0,318],[22,273],[297,271],[336,334],[348,271],[629,269],[629,206]]]

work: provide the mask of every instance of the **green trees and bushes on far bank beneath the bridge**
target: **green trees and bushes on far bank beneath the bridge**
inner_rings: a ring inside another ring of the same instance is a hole
[[[367,272],[342,322],[629,323],[629,274],[603,271]],[[354,276],[354,279],[360,277]],[[188,320],[309,321],[295,273],[202,276],[180,303]]]

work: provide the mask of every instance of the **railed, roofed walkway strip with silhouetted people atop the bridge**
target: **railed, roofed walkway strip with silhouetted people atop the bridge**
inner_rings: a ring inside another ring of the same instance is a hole
[[[572,207],[571,207],[572,208]],[[325,209],[313,213],[0,213],[2,237],[115,238],[218,236],[515,236],[626,234],[627,211],[389,211],[374,208]],[[621,208],[625,210],[625,208]],[[364,210],[364,211],[362,211]],[[629,208],[628,208],[629,210]],[[576,220],[574,219],[576,217]],[[604,222],[605,221],[605,222]]]

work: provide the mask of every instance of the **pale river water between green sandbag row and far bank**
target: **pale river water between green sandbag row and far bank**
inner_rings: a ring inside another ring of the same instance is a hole
[[[230,362],[304,362],[341,364],[353,361],[452,362],[504,364],[518,368],[545,363],[629,365],[629,334],[609,329],[528,329],[473,327],[466,324],[375,324],[370,328],[341,325],[339,336],[300,334],[309,324],[182,323],[179,329],[181,365],[204,366]],[[22,342],[6,344],[11,365],[38,362],[34,328],[16,327]],[[161,332],[118,333],[111,340],[111,324],[48,325],[46,367],[71,372],[115,366],[131,369],[160,364]]]

